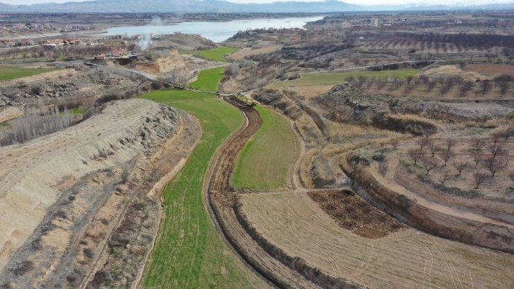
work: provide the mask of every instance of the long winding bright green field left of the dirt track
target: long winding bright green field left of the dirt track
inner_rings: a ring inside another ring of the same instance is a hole
[[[182,170],[163,190],[164,217],[140,288],[267,288],[226,247],[202,197],[215,151],[243,123],[239,111],[201,92],[160,90],[142,97],[199,118],[204,133]]]

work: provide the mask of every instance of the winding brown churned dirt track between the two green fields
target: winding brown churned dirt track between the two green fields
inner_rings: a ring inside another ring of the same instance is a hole
[[[229,179],[235,166],[235,158],[251,135],[260,128],[262,119],[257,110],[245,106],[237,97],[224,97],[224,100],[242,111],[247,118],[247,125],[233,133],[213,158],[204,185],[208,210],[235,253],[268,282],[278,288],[319,288],[299,272],[267,254],[238,221],[235,214],[237,193],[229,185]]]

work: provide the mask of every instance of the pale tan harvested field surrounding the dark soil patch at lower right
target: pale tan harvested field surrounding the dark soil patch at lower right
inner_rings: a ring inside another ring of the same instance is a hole
[[[413,229],[384,238],[361,238],[338,226],[305,193],[244,195],[242,204],[251,223],[274,245],[371,288],[514,286],[511,254]]]

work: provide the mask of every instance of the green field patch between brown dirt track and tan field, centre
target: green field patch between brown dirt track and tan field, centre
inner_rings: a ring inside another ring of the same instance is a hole
[[[251,190],[285,188],[288,169],[298,157],[300,142],[280,115],[270,108],[256,108],[263,125],[240,152],[232,184]]]

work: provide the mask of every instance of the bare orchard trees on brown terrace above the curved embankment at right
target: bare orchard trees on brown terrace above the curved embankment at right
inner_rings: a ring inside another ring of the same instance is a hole
[[[426,170],[427,175],[431,170],[438,167],[445,167],[442,174],[438,177],[442,185],[444,185],[445,181],[450,177],[449,171],[446,169],[447,165],[454,167],[456,172],[458,172],[457,176],[461,176],[462,172],[465,170],[474,169],[472,173],[473,180],[476,183],[476,188],[479,188],[481,183],[489,178],[494,178],[497,172],[508,167],[509,161],[513,159],[512,156],[508,155],[509,151],[505,148],[504,143],[498,138],[498,136],[501,135],[505,140],[508,140],[513,133],[514,129],[505,129],[498,133],[498,135],[493,135],[494,138],[490,142],[483,138],[473,138],[470,142],[470,147],[473,151],[471,159],[474,165],[452,151],[452,148],[457,144],[456,140],[453,138],[449,138],[445,140],[442,145],[438,145],[434,140],[431,140],[428,135],[422,135],[416,140],[416,144],[419,148],[409,149],[407,154],[409,158],[413,160],[414,165],[418,165],[419,163]],[[490,154],[483,154],[483,149],[486,149]],[[438,156],[440,160],[435,158],[435,156]],[[479,165],[481,165],[483,169],[488,170],[490,174],[486,174],[483,170],[480,170]],[[514,181],[514,172],[510,172],[508,176]]]

